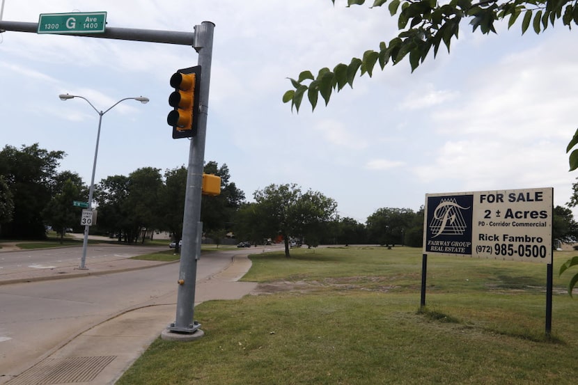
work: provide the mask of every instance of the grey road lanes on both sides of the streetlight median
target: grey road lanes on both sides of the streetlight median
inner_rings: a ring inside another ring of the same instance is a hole
[[[90,249],[90,258],[128,258],[141,253],[138,248],[115,246]],[[231,263],[232,255],[210,253],[201,258],[197,281],[221,272]],[[79,251],[4,252],[0,259],[3,270],[38,269],[39,265],[77,265]],[[88,258],[86,265],[90,267]],[[171,263],[132,272],[1,285],[0,379],[120,313],[142,306],[175,304],[178,269],[178,263]],[[166,320],[167,324],[173,321],[174,315]]]

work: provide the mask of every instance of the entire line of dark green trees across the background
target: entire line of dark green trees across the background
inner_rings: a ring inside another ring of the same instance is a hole
[[[43,239],[46,227],[63,237],[66,230],[81,231],[82,207],[88,186],[77,173],[57,172],[63,151],[38,146],[0,151],[0,237]],[[420,247],[423,241],[423,207],[382,207],[366,223],[337,214],[337,202],[319,191],[302,191],[297,184],[270,184],[253,193],[231,180],[226,164],[205,164],[205,173],[221,177],[221,194],[203,196],[201,221],[205,236],[219,242],[227,234],[251,244],[283,240],[286,256],[292,244],[380,244]],[[129,175],[112,175],[95,185],[97,224],[91,232],[116,237],[120,242],[143,242],[155,230],[182,236],[187,169],[143,167]],[[578,193],[576,193],[578,194]],[[572,201],[574,202],[574,201]],[[554,237],[563,242],[578,238],[578,224],[570,209],[554,209]]]

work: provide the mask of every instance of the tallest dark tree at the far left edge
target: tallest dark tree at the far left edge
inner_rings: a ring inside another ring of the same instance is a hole
[[[42,212],[52,199],[52,186],[63,151],[48,151],[38,143],[19,150],[5,146],[0,151],[0,175],[13,199],[12,220],[2,226],[2,235],[13,238],[46,237]]]

